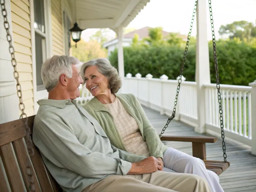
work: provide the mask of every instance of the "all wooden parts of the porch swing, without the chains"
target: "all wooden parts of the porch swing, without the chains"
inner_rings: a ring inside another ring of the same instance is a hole
[[[35,115],[28,117],[28,127],[30,128],[31,134],[33,131],[34,118]],[[26,140],[26,131],[22,119],[0,124],[0,155],[4,166],[3,169],[0,162],[1,192],[9,192],[8,186],[10,186],[12,192],[29,191],[29,182],[26,174],[28,157]],[[193,156],[203,159],[206,168],[218,175],[229,166],[228,162],[206,160],[205,143],[216,142],[216,137],[163,136],[161,140],[192,142]],[[33,148],[34,156],[31,158],[31,162],[34,167],[33,175],[37,177],[37,180],[35,179],[36,177],[34,177],[35,191],[62,192],[59,184],[52,178],[51,174],[44,166],[39,150],[34,144]],[[23,182],[26,189],[23,188]]]

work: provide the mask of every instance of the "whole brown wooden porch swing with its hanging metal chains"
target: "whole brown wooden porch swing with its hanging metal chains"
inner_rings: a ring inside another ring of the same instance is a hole
[[[205,166],[208,170],[220,175],[229,167],[229,162],[226,158],[226,148],[224,142],[224,131],[223,131],[223,122],[222,122],[222,111],[221,111],[221,100],[220,100],[220,84],[219,84],[219,74],[218,74],[218,63],[216,55],[216,44],[214,37],[213,29],[213,20],[212,20],[212,8],[211,0],[209,0],[211,23],[212,23],[212,41],[213,41],[213,52],[214,52],[214,61],[215,61],[215,70],[216,70],[216,79],[217,79],[217,89],[218,89],[218,98],[220,106],[220,122],[221,122],[221,137],[222,137],[222,146],[223,146],[223,156],[224,161],[208,161],[206,160],[206,147],[205,143],[214,143],[217,141],[216,137],[179,137],[179,136],[163,136],[165,129],[168,124],[175,116],[176,104],[178,99],[178,94],[180,90],[181,76],[183,73],[183,68],[186,60],[186,55],[188,51],[188,43],[191,35],[191,30],[193,26],[194,16],[196,14],[196,5],[195,3],[192,22],[190,25],[190,30],[188,34],[188,41],[186,44],[186,49],[184,52],[183,62],[180,69],[180,77],[178,81],[177,93],[174,102],[173,113],[166,125],[164,126],[160,138],[165,141],[183,141],[183,142],[192,142],[193,156],[202,159],[205,163]],[[1,0],[2,14],[4,17],[4,28],[7,32],[7,40],[9,42],[9,52],[12,56],[12,66],[14,68],[14,78],[16,79],[16,88],[17,95],[19,97],[19,108],[22,112],[21,119],[0,124],[0,156],[4,165],[4,169],[0,165],[0,188],[2,192],[8,192],[9,186],[13,192],[21,191],[42,191],[42,192],[62,192],[62,189],[58,183],[52,178],[51,174],[44,166],[40,153],[36,146],[33,144],[31,139],[31,134],[33,132],[33,123],[34,116],[27,117],[24,112],[25,105],[22,101],[22,92],[21,86],[19,83],[19,73],[17,72],[16,59],[14,56],[14,48],[12,46],[12,36],[9,31],[9,23],[7,21],[7,12],[5,9],[5,2]],[[23,141],[25,140],[25,142]],[[14,149],[14,153],[13,150]],[[29,156],[28,156],[29,154]],[[16,164],[18,162],[18,166]],[[21,173],[21,177],[20,177]],[[5,180],[7,176],[7,180]],[[35,177],[36,176],[36,177]],[[23,181],[26,187],[26,190],[23,190]],[[41,188],[41,189],[40,189]]]

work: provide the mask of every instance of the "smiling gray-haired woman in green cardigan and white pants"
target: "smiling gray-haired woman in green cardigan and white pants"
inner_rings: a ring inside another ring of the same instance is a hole
[[[212,192],[223,191],[217,174],[206,170],[201,159],[161,142],[134,95],[117,93],[121,79],[107,59],[84,63],[80,75],[94,96],[84,108],[100,123],[112,145],[130,153],[154,156],[161,161],[161,170],[165,167],[175,172],[199,175],[208,181]]]

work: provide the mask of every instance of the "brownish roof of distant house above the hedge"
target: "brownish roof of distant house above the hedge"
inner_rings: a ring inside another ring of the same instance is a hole
[[[134,31],[132,31],[130,33],[126,33],[126,34],[124,34],[124,39],[132,39],[132,38],[134,38],[135,34],[138,34],[140,39],[143,39],[145,37],[149,37],[148,36],[149,29],[152,29],[152,27],[148,27],[147,26],[147,27],[143,27],[143,28],[134,30]],[[164,31],[164,30],[162,31],[162,33],[163,33],[163,37],[166,37],[166,36],[168,36],[170,34],[170,32],[167,32],[167,31]],[[187,38],[187,36],[180,35],[180,34],[177,34],[177,37],[181,37],[182,39],[186,39]],[[104,47],[108,47],[109,45],[115,44],[117,42],[118,42],[118,39],[115,38],[115,39],[112,39],[112,40],[104,43],[103,46]]]

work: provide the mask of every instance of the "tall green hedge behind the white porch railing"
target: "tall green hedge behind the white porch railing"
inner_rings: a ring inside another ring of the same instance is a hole
[[[235,40],[217,41],[217,58],[221,84],[248,85],[256,79],[256,48]],[[182,46],[183,47],[183,46]],[[213,48],[209,42],[211,82],[216,83]],[[134,76],[148,73],[159,78],[165,74],[176,79],[180,73],[184,48],[168,44],[155,46],[124,47],[124,71]],[[117,50],[109,56],[111,64],[118,68]],[[183,76],[195,81],[196,46],[189,45]]]

